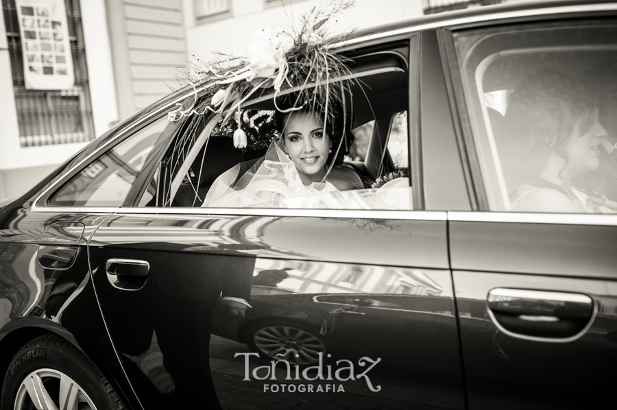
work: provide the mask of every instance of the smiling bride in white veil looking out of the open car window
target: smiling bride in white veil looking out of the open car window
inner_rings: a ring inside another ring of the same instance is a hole
[[[324,118],[317,110],[276,112],[280,140],[247,172],[238,164],[218,177],[202,207],[397,209],[376,205],[374,192],[363,190],[360,177],[340,166],[354,139],[352,120],[331,115],[324,127]],[[397,186],[409,188],[404,180]]]

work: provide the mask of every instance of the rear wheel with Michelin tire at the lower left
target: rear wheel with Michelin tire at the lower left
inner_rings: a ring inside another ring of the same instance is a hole
[[[47,409],[35,405],[37,400],[49,409],[126,408],[97,366],[53,333],[31,340],[13,357],[2,385],[0,410]]]

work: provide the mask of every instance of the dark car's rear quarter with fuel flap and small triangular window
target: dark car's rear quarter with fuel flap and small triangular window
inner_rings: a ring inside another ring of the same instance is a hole
[[[1,320],[2,337],[17,346],[20,338],[25,344],[45,330],[58,333],[96,363],[104,363],[101,371],[131,405],[138,402],[128,394],[128,380],[119,376],[121,364],[106,336],[89,273],[87,244],[97,227],[122,205],[168,127],[165,120],[143,128],[147,119],[146,115],[127,125],[138,129],[128,140],[123,138],[124,127],[101,137],[53,178],[5,207],[1,217],[2,300],[3,307],[9,307],[8,317]],[[34,390],[28,392],[37,402]]]

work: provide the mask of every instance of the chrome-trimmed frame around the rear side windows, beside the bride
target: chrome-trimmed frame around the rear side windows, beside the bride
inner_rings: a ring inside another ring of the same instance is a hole
[[[407,55],[402,56],[404,61],[408,64],[409,81],[408,81],[408,105],[407,105],[407,126],[408,126],[408,138],[409,138],[409,170],[411,170],[411,183],[413,192],[413,210],[354,210],[354,209],[257,209],[257,208],[194,208],[194,207],[136,207],[132,204],[138,203],[141,194],[134,194],[134,189],[141,189],[143,191],[142,183],[132,187],[131,192],[125,203],[121,207],[51,207],[47,205],[47,199],[53,195],[58,189],[62,187],[64,183],[70,181],[72,177],[81,172],[90,162],[97,159],[99,155],[103,155],[107,149],[112,148],[115,144],[119,144],[125,138],[129,138],[132,133],[121,138],[129,131],[136,132],[139,129],[143,129],[150,123],[166,115],[171,111],[171,108],[187,99],[192,97],[195,93],[202,92],[209,84],[192,90],[186,94],[182,94],[180,97],[172,99],[180,95],[180,92],[176,92],[171,97],[168,97],[164,101],[155,103],[156,109],[152,110],[152,106],[149,107],[149,112],[143,114],[140,118],[139,114],[136,114],[131,119],[132,123],[123,127],[117,127],[117,133],[108,137],[108,141],[104,142],[97,147],[95,151],[84,157],[77,164],[75,164],[71,170],[65,172],[64,175],[53,181],[49,187],[41,192],[35,199],[32,210],[34,212],[111,212],[111,213],[127,213],[127,214],[219,214],[219,215],[263,215],[263,216],[331,216],[335,218],[376,218],[376,219],[399,219],[399,220],[446,220],[446,213],[441,211],[429,211],[424,210],[424,203],[422,201],[422,166],[421,166],[421,153],[418,147],[420,144],[420,49],[421,49],[421,33],[420,31],[411,31],[404,36],[397,36],[396,38],[384,38],[380,40],[378,44],[372,42],[367,47],[360,47],[355,49],[352,55],[365,55],[366,51],[375,48],[385,49],[390,44],[400,44],[401,41],[407,42]],[[360,51],[358,51],[360,50]],[[415,57],[415,58],[414,58]],[[186,88],[184,89],[186,90]],[[198,94],[199,95],[199,94]],[[192,101],[193,98],[191,98]],[[180,121],[181,123],[182,121]],[[135,129],[140,126],[138,129]],[[177,127],[176,127],[177,129]],[[170,141],[172,138],[168,138]],[[163,153],[160,153],[162,159]],[[154,177],[154,172],[158,164],[145,167],[141,170],[140,176],[144,176],[147,179],[150,175]],[[134,185],[135,182],[134,182]],[[130,204],[130,205],[129,205]]]

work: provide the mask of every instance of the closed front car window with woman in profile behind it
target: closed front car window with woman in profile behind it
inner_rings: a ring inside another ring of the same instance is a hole
[[[454,39],[490,209],[617,212],[617,23]]]

